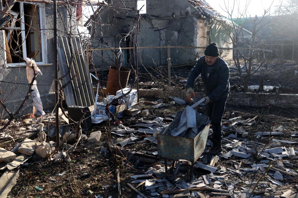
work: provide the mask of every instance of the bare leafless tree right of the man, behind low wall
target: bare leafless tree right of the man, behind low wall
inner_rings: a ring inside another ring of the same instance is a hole
[[[264,41],[263,34],[271,26],[272,22],[269,20],[269,17],[272,14],[270,13],[270,6],[267,10],[264,10],[264,14],[261,17],[255,15],[255,17],[252,18],[247,13],[250,1],[246,1],[243,8],[241,8],[240,5],[239,0],[234,0],[231,7],[225,2],[224,10],[232,20],[232,24],[227,28],[230,28],[233,32],[230,38],[234,48],[237,48],[234,51],[233,60],[243,83],[244,92],[248,92],[249,79],[266,61],[265,52],[269,51],[268,49],[266,50],[269,46]],[[237,18],[233,19],[234,17]],[[247,23],[250,23],[248,30],[244,29]],[[255,59],[258,60],[259,64],[257,68],[253,70],[252,65]],[[242,60],[244,60],[244,64]]]

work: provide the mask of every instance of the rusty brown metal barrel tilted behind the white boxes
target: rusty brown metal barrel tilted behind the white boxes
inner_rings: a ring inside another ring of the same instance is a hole
[[[130,69],[127,67],[111,66],[108,81],[106,83],[106,95],[115,96],[118,90],[120,90],[121,88],[125,88],[128,83],[129,74]]]

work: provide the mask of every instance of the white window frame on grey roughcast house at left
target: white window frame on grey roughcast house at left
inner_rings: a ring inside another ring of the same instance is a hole
[[[40,32],[41,32],[41,54],[42,54],[42,61],[41,62],[36,62],[37,65],[42,65],[42,64],[47,64],[47,40],[46,40],[46,35],[45,35],[45,29],[46,29],[46,24],[45,24],[45,4],[44,3],[33,3],[33,2],[20,2],[20,16],[21,16],[21,35],[22,35],[22,40],[23,38],[26,38],[26,34],[25,34],[25,17],[24,17],[24,4],[33,4],[33,5],[37,5],[38,9],[39,9],[39,26],[40,26]],[[5,43],[5,34],[4,34],[3,30],[3,39],[4,39],[4,43]],[[5,50],[6,46],[4,45]],[[23,58],[27,57],[27,50],[26,50],[26,40],[23,42],[22,44],[22,50],[23,50]],[[7,57],[6,57],[6,53],[5,54],[5,64],[6,67],[18,67],[18,66],[25,66],[26,63],[25,62],[18,62],[18,63],[7,63]]]

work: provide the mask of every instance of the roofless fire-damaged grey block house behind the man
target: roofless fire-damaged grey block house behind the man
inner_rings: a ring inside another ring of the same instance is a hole
[[[167,64],[167,49],[158,46],[173,46],[170,50],[172,65],[195,62],[204,55],[204,49],[179,48],[205,47],[216,42],[219,47],[232,48],[230,22],[214,11],[204,0],[142,0],[108,1],[111,6],[102,6],[91,17],[93,35],[93,61],[96,67],[133,65],[136,11],[140,9],[138,32],[138,64],[144,66]],[[126,9],[125,9],[126,8]],[[127,8],[130,8],[127,9]],[[89,25],[88,23],[85,25]],[[107,49],[107,48],[118,48]],[[104,49],[104,50],[101,50]],[[233,58],[233,50],[220,50],[224,59]]]

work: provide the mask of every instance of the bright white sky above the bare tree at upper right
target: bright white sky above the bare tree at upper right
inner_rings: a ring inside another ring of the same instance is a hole
[[[226,10],[225,3],[226,5],[228,5],[229,3],[228,7],[231,10],[231,7],[233,7],[234,0],[206,0],[206,2],[208,2],[220,14],[228,17],[228,14],[224,12],[224,10]],[[268,9],[271,6],[271,4],[272,11],[270,11],[270,13],[272,13],[275,7],[280,4],[280,0],[235,0],[235,2],[240,2],[239,7],[241,11],[244,11],[246,2],[250,2],[247,9],[247,13],[248,16],[251,15],[251,17],[254,17],[255,15],[262,16],[264,14],[264,9]],[[235,6],[234,8],[233,13],[235,13],[235,15],[233,16],[233,18],[237,17],[237,12],[235,11],[237,7],[238,6]]]

